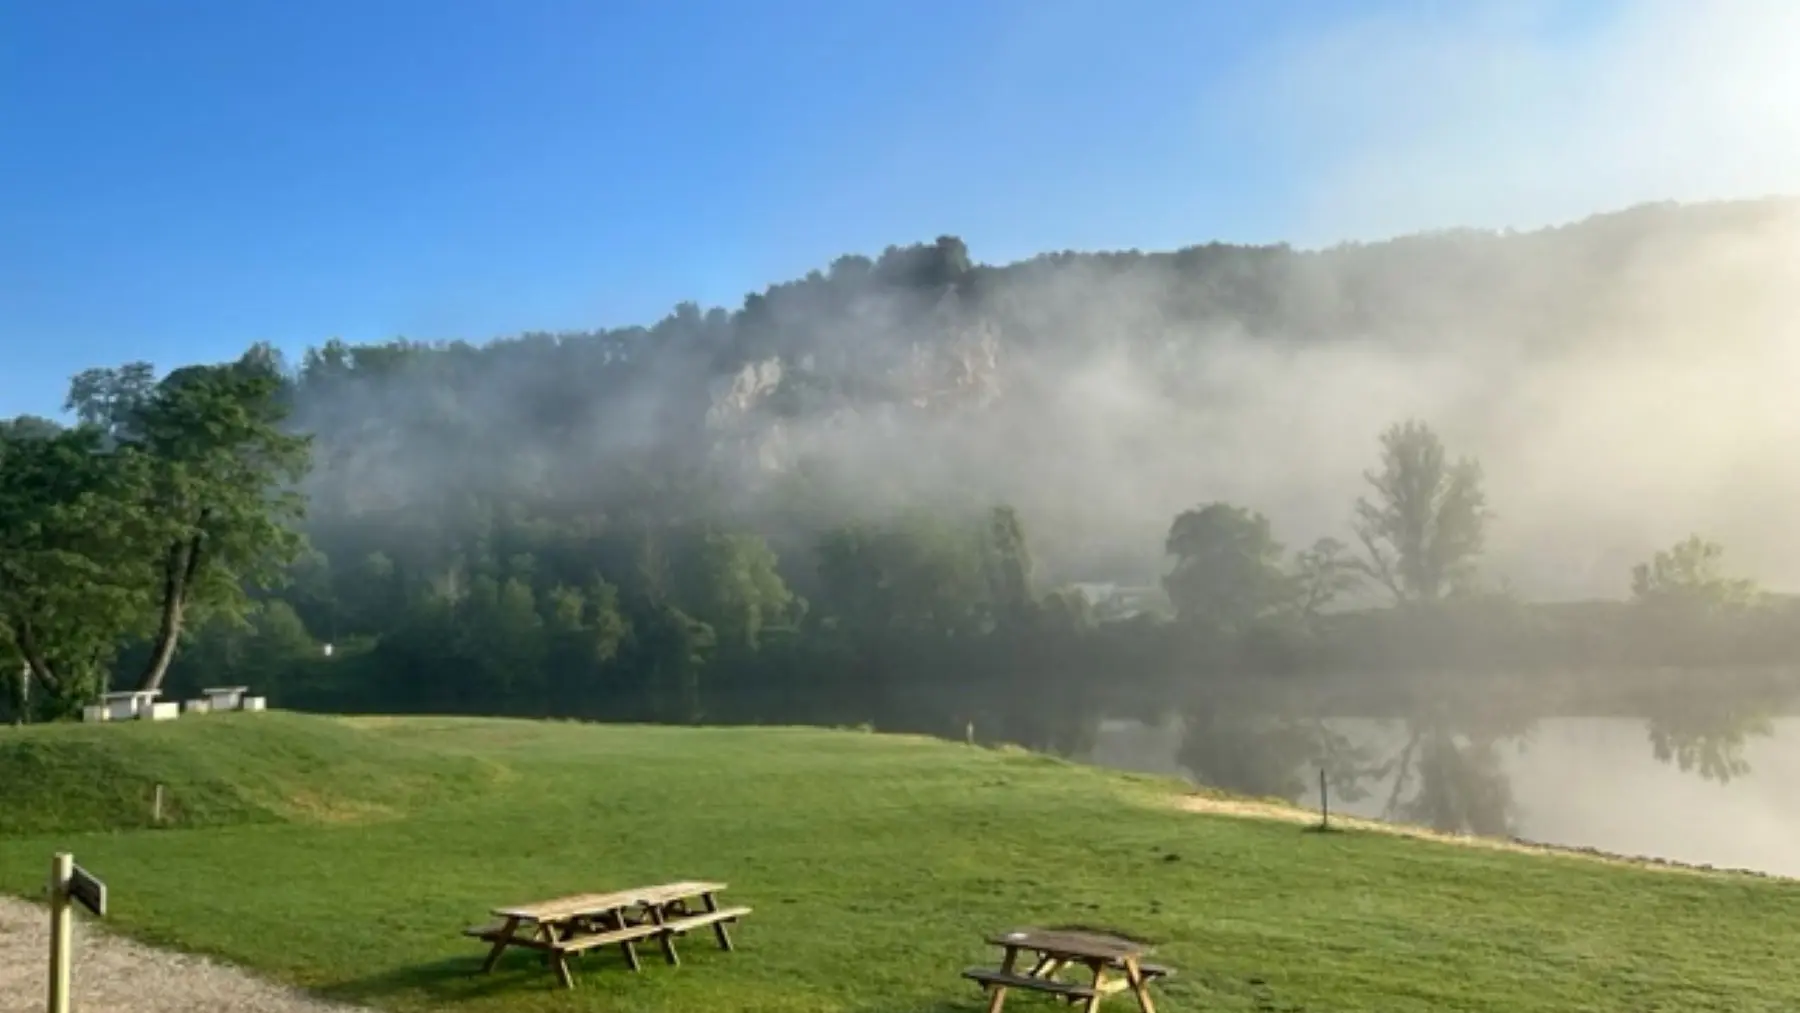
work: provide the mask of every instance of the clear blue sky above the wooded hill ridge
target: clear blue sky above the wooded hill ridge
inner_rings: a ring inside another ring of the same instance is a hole
[[[88,365],[652,322],[945,232],[1008,261],[1409,227],[1332,225],[1318,184],[1391,176],[1361,139],[1424,128],[1370,108],[1444,90],[1393,76],[1332,112],[1319,72],[1615,20],[1525,7],[0,4],[0,416],[54,414]]]

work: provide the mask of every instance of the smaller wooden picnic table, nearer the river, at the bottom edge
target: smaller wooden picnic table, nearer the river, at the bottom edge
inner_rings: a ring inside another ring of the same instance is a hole
[[[963,972],[963,977],[988,990],[988,1013],[1001,1013],[1008,988],[1042,991],[1069,1004],[1082,1002],[1087,1013],[1098,1009],[1103,997],[1130,990],[1138,997],[1138,1009],[1156,1013],[1148,984],[1174,973],[1168,968],[1143,963],[1141,957],[1150,952],[1147,943],[1100,932],[1019,928],[988,936],[988,943],[1006,952],[1001,966]],[[1037,961],[1030,970],[1021,972],[1019,955],[1024,952],[1035,954]],[[1069,964],[1085,966],[1093,979],[1085,984],[1057,979],[1057,973]],[[1109,972],[1120,972],[1123,977],[1109,979]]]

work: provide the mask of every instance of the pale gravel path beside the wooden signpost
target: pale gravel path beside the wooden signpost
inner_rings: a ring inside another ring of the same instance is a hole
[[[356,1013],[187,954],[153,950],[92,928],[76,914],[72,1013]],[[50,916],[0,898],[0,1013],[41,1013]]]

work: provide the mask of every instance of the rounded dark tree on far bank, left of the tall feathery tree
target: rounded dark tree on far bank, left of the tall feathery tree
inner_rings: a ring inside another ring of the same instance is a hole
[[[1240,635],[1294,603],[1282,543],[1260,513],[1222,502],[1184,511],[1170,525],[1165,551],[1175,567],[1163,587],[1183,623]]]

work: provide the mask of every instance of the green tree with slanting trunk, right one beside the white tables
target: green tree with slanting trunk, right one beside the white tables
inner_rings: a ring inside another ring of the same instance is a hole
[[[167,675],[189,619],[243,615],[248,588],[270,587],[301,549],[304,500],[295,491],[310,439],[281,428],[283,378],[257,349],[227,365],[178,369],[149,383],[149,367],[88,371],[68,408],[103,426],[113,453],[148,462],[137,509],[149,529],[157,605],[140,689]]]

